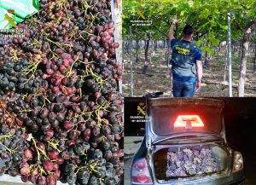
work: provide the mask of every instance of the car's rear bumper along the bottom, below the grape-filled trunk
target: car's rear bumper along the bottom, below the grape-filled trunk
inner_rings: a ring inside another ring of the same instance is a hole
[[[238,171],[236,173],[231,174],[230,176],[220,177],[218,179],[211,178],[198,178],[193,180],[181,180],[176,182],[154,182],[154,185],[241,185],[244,181],[245,175],[244,171]],[[139,185],[139,184],[131,184],[131,185]],[[143,184],[149,185],[149,184]],[[151,184],[152,185],[152,184]]]

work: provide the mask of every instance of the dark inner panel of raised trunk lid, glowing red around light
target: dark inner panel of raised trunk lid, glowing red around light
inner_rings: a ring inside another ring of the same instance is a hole
[[[151,107],[154,133],[169,136],[175,133],[210,133],[221,130],[221,108],[210,106]]]

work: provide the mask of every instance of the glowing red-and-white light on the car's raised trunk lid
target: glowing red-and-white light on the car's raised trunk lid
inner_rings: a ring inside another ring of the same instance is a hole
[[[174,123],[174,127],[193,129],[193,127],[204,127],[204,123],[198,115],[179,115]]]

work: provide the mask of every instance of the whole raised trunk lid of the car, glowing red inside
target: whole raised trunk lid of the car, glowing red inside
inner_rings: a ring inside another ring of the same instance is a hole
[[[223,101],[206,98],[147,100],[147,146],[179,136],[211,136],[225,141],[223,107]]]

